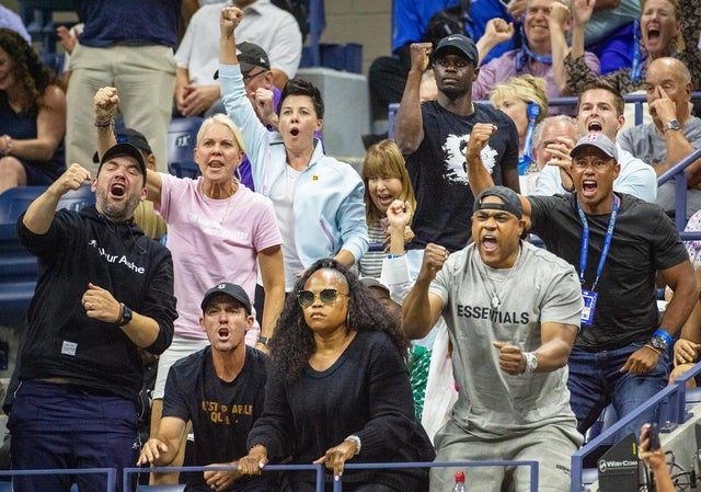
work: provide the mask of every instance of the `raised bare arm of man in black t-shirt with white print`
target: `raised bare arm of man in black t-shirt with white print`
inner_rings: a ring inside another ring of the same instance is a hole
[[[421,114],[421,78],[428,68],[433,46],[430,43],[412,43],[412,66],[406,77],[394,119],[394,141],[402,153],[413,153],[424,140],[424,121]]]

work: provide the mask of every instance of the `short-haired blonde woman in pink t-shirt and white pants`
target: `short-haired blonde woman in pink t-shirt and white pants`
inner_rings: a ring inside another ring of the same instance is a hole
[[[116,89],[100,89],[95,95],[95,117],[112,118],[118,101]],[[99,136],[101,152],[115,141],[111,126],[101,128]],[[205,119],[197,133],[194,157],[200,176],[180,179],[147,171],[148,199],[168,225],[179,313],[173,342],[159,359],[152,432],[160,424],[170,366],[209,345],[199,325],[202,293],[222,282],[235,282],[253,299],[260,267],[265,291],[263,319],[260,331],[257,327],[249,331],[246,343],[261,350],[272,337],[283,309],[283,238],[273,203],[235,178],[244,151],[239,127],[228,116],[216,114]],[[185,446],[181,449],[184,453]]]

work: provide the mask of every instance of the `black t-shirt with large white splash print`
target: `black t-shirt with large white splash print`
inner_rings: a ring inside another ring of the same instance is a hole
[[[504,184],[504,172],[518,165],[518,134],[512,118],[486,104],[475,104],[470,116],[444,110],[435,101],[421,106],[424,139],[406,156],[406,170],[416,193],[410,249],[435,242],[449,251],[468,244],[474,196],[468,183],[464,151],[476,123],[493,123],[497,130],[482,151],[482,161],[494,184]]]

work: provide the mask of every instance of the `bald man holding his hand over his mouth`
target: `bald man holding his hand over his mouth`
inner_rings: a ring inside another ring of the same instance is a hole
[[[657,175],[676,165],[701,147],[701,119],[691,115],[691,75],[676,58],[657,58],[645,77],[647,104],[653,123],[622,131],[619,144],[651,164]],[[701,159],[685,171],[687,175],[687,219],[701,208]],[[675,213],[675,180],[659,186],[656,203],[669,215]]]

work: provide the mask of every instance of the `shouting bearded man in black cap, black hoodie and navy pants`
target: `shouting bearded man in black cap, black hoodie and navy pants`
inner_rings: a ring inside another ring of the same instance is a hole
[[[61,196],[90,179],[70,165],[19,219],[39,276],[8,422],[16,470],[134,466],[139,348],[160,354],[173,336],[171,254],[131,218],[147,195],[141,152],[128,144],[110,148],[92,180],[95,205],[56,211]],[[72,480],[18,476],[13,489],[67,492]],[[74,480],[81,490],[106,490],[104,474]],[[116,490],[122,480],[117,471]]]

